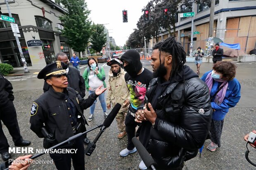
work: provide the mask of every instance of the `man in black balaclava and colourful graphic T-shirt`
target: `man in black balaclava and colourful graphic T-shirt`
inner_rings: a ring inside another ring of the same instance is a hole
[[[119,155],[128,156],[128,154],[137,151],[132,142],[132,138],[135,136],[135,128],[139,125],[134,121],[135,113],[137,109],[144,106],[144,96],[153,75],[152,72],[142,67],[140,54],[135,49],[126,51],[120,60],[123,62],[123,68],[127,72],[125,81],[130,91],[130,100],[126,99],[123,103],[123,108],[127,107],[129,103],[130,106],[125,119],[128,144],[127,148],[123,149]]]

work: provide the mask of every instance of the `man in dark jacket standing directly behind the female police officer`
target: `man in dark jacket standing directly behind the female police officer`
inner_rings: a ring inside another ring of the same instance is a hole
[[[81,73],[75,68],[69,67],[69,58],[66,56],[65,53],[62,53],[62,52],[57,53],[56,61],[61,61],[64,63],[65,66],[67,66],[66,72],[68,73],[66,74],[66,77],[68,78],[68,83],[69,83],[68,86],[75,89],[75,91],[77,91],[80,94],[80,96],[84,98],[85,97],[85,81]],[[49,88],[50,88],[50,85],[45,82],[43,85],[43,91],[46,92],[49,90]],[[83,142],[85,144],[90,143],[90,140],[88,139],[87,134],[84,135]]]

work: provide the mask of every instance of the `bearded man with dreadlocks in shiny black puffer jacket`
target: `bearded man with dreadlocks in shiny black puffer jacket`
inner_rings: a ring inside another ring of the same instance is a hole
[[[197,155],[211,125],[206,84],[187,65],[174,37],[157,43],[152,52],[154,79],[147,88],[149,110],[136,112],[140,141],[154,158],[156,169],[182,170]],[[145,105],[147,107],[147,105]]]

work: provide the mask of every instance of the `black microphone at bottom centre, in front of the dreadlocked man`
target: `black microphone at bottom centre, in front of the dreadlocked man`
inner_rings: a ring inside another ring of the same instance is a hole
[[[154,167],[154,159],[152,156],[148,153],[146,148],[142,145],[142,143],[137,139],[137,137],[133,137],[132,139],[134,146],[136,147],[140,157],[142,158],[142,161],[145,163],[146,167],[152,170],[156,170]]]

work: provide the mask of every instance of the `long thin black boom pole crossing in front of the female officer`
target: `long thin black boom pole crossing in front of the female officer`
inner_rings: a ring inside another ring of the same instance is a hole
[[[75,140],[76,138],[78,138],[78,137],[84,135],[85,133],[88,133],[88,132],[90,132],[90,131],[92,131],[92,130],[95,130],[95,129],[97,129],[97,128],[100,128],[100,127],[102,127],[102,126],[103,126],[103,124],[100,124],[100,125],[95,126],[94,128],[91,128],[91,129],[89,129],[89,130],[83,132],[83,133],[78,133],[78,134],[76,134],[76,135],[73,135],[73,136],[69,137],[69,139],[64,140],[63,142],[61,142],[61,143],[59,143],[59,144],[56,144],[56,145],[54,145],[53,147],[50,147],[49,150],[50,150],[50,149],[55,149],[55,148],[59,147],[59,146],[62,145],[62,144],[66,144],[66,143],[70,144],[70,142],[71,142],[72,140]],[[43,154],[45,154],[45,152],[39,153],[39,154],[36,154],[36,155],[33,155],[33,156],[30,157],[30,159],[38,158],[39,156],[42,156]],[[6,162],[7,162],[7,161],[6,161]],[[6,163],[5,163],[5,164],[6,164]],[[6,164],[6,165],[7,165],[7,164]],[[11,164],[8,164],[7,166],[9,166],[9,165],[11,165]],[[6,167],[7,167],[7,166],[6,166]],[[6,168],[5,170],[9,170],[9,168]]]

